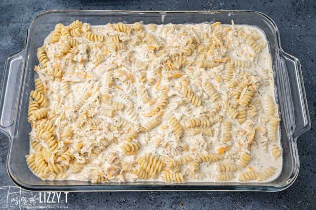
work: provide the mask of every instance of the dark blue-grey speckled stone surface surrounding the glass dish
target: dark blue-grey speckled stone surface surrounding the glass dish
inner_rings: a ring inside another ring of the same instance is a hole
[[[316,1],[290,0],[0,0],[0,78],[5,59],[19,52],[27,27],[49,9],[105,10],[257,10],[280,30],[283,49],[298,57],[312,128],[298,138],[300,173],[295,183],[277,193],[262,192],[97,192],[70,193],[69,209],[314,209],[316,208]],[[0,134],[0,186],[13,185],[6,173],[8,139]],[[0,190],[0,208],[6,207]],[[51,204],[40,204],[50,206]],[[9,205],[10,206],[10,205]],[[12,206],[12,208],[18,208]]]

